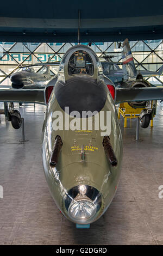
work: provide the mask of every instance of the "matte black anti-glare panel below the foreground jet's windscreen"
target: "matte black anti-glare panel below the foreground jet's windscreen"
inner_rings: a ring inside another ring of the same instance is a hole
[[[55,96],[60,107],[69,112],[101,111],[107,97],[107,87],[102,80],[93,80],[91,77],[73,77],[65,84],[55,84]]]

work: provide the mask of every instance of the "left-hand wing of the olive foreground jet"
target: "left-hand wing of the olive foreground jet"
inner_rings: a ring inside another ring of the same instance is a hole
[[[44,89],[0,89],[0,101],[45,104]]]

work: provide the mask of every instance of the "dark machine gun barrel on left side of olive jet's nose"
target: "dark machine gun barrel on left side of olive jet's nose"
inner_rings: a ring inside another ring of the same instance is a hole
[[[60,155],[60,151],[61,151],[61,148],[62,148],[62,140],[61,140],[61,137],[58,135],[56,138],[55,138],[55,142],[54,142],[54,147],[53,147],[53,150],[52,150],[52,156],[51,156],[51,161],[49,163],[49,165],[51,167],[55,167],[58,163],[58,159],[59,159],[59,155]]]

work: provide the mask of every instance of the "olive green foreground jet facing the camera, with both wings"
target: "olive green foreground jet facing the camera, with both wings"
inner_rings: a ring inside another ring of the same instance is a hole
[[[85,45],[64,54],[53,86],[0,90],[0,101],[46,104],[43,169],[55,203],[77,228],[89,228],[101,217],[117,190],[122,135],[115,103],[162,99],[163,88],[116,89]]]

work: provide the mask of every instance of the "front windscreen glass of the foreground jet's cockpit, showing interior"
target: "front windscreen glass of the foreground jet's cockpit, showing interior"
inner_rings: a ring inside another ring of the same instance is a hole
[[[70,57],[68,62],[68,74],[72,75],[90,75],[94,72],[93,61],[90,55],[85,51],[76,51]]]

